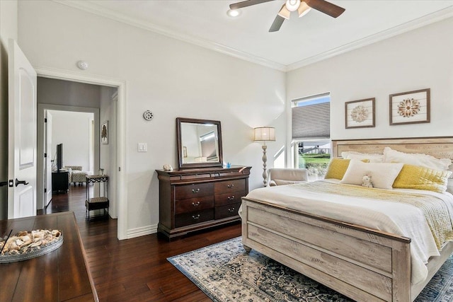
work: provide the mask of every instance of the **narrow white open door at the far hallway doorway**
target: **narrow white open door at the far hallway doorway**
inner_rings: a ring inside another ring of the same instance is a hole
[[[52,199],[52,115],[45,110],[45,146],[44,146],[44,206],[47,207]]]

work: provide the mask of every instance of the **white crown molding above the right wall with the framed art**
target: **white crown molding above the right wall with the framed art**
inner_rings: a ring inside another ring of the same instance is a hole
[[[368,37],[364,37],[360,40],[350,42],[346,45],[334,48],[333,50],[329,50],[328,52],[323,52],[322,54],[317,54],[313,57],[309,57],[308,59],[303,59],[302,61],[299,61],[299,62],[296,62],[293,64],[289,64],[289,65],[287,65],[286,71],[292,71],[294,69],[299,69],[301,67],[323,61],[324,59],[329,59],[331,57],[335,57],[338,54],[344,54],[345,52],[350,52],[351,50],[357,50],[360,47],[371,45],[375,42],[386,40],[386,39],[388,39],[390,37],[394,37],[396,35],[401,35],[402,33],[406,33],[408,31],[415,30],[417,28],[421,28],[421,27],[429,25],[431,23],[442,21],[442,20],[450,18],[452,16],[453,16],[453,6],[449,6],[440,11],[436,11],[435,13],[430,13],[429,15],[423,16],[421,18],[417,18],[413,21],[409,21],[409,22],[403,23],[401,25],[395,26],[394,28],[389,28],[388,30],[384,30],[380,33],[377,33],[374,35],[369,35]]]

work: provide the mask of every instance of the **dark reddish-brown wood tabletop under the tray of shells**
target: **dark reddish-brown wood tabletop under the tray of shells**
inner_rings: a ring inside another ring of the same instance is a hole
[[[58,229],[63,244],[30,260],[0,263],[0,301],[98,301],[73,212],[0,221],[0,236]]]

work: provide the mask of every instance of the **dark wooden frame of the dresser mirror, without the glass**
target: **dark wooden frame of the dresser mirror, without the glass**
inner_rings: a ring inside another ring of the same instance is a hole
[[[181,123],[191,124],[213,124],[217,126],[217,148],[218,148],[218,159],[215,162],[203,162],[203,163],[183,163],[183,141],[181,139]],[[177,149],[178,149],[178,168],[212,168],[223,166],[222,156],[222,128],[220,127],[220,121],[216,120],[197,120],[186,117],[176,117],[176,137],[177,137]]]

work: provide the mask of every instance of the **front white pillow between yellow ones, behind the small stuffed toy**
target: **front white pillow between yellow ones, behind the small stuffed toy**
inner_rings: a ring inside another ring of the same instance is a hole
[[[340,183],[362,185],[363,176],[370,175],[373,187],[391,189],[402,168],[403,163],[364,163],[358,159],[351,159]]]

